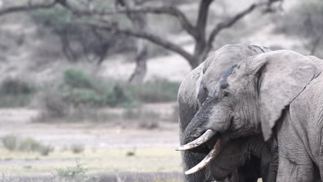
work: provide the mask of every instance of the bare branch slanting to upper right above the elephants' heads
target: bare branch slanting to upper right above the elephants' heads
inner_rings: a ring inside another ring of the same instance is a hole
[[[217,34],[219,34],[219,32],[221,30],[223,30],[224,28],[230,28],[231,26],[233,26],[233,24],[236,23],[239,19],[242,19],[242,17],[244,17],[246,14],[252,12],[256,8],[256,6],[257,6],[256,4],[252,4],[251,6],[246,8],[246,10],[239,12],[238,14],[236,14],[233,18],[229,19],[228,21],[218,23],[217,26],[215,26],[215,28],[211,31],[210,37],[208,38],[207,52],[209,50],[211,50],[212,43],[213,43],[215,37],[217,36]]]

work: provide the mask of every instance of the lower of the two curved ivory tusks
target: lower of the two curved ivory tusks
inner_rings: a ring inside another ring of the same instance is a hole
[[[221,149],[220,139],[217,139],[217,142],[213,146],[212,150],[208,153],[208,155],[201,162],[195,165],[193,168],[191,168],[190,170],[187,170],[185,174],[193,174],[205,168],[205,166],[208,165],[208,163],[210,163],[210,161],[214,159],[215,156],[217,156],[217,154],[219,154],[220,149]]]

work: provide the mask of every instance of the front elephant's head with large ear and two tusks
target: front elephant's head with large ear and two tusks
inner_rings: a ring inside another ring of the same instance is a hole
[[[184,131],[187,144],[179,150],[209,151],[186,173],[215,165],[228,143],[242,136],[262,133],[268,140],[284,108],[318,74],[311,59],[290,50],[248,57],[226,70]]]

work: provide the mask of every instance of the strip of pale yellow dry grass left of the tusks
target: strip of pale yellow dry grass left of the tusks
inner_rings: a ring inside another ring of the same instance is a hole
[[[86,149],[81,154],[55,150],[48,156],[0,149],[0,171],[10,176],[52,174],[57,168],[75,166],[78,160],[89,174],[97,172],[180,172],[180,154],[174,148]]]

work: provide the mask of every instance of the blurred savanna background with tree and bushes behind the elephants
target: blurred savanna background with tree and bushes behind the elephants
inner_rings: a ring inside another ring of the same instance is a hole
[[[321,0],[0,0],[0,181],[182,181],[177,90],[230,43],[323,57]]]

